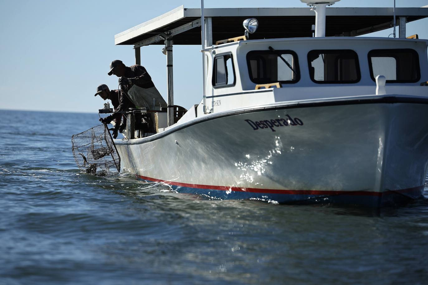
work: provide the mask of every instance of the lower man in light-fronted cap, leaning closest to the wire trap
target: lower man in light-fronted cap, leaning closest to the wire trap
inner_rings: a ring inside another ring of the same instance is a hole
[[[111,104],[113,105],[114,111],[119,111],[119,105],[120,105],[120,91],[119,90],[110,90],[107,85],[101,84],[98,85],[97,91],[95,93],[95,96],[100,95],[100,97],[103,100],[110,99]],[[129,100],[128,100],[129,101]],[[131,102],[128,103],[128,108],[135,108],[135,105]],[[122,114],[116,113],[109,115],[105,118],[101,118],[100,121],[102,123],[108,124],[114,119],[114,129],[113,129],[113,138],[117,138],[120,122],[122,120]]]

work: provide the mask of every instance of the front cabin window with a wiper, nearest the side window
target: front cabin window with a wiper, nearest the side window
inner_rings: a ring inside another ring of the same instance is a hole
[[[300,79],[297,55],[291,50],[253,50],[247,53],[250,79],[256,84],[296,83]]]

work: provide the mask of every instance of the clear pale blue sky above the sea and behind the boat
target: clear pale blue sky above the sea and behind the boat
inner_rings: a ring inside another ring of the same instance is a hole
[[[178,6],[199,0],[51,1],[0,0],[0,109],[98,112],[99,84],[117,89],[110,62],[135,63],[131,45],[114,45],[114,35]],[[205,0],[205,8],[306,7],[299,0]],[[392,7],[393,0],[341,0],[336,7]],[[396,0],[397,7],[422,7],[428,0]],[[262,23],[259,23],[260,25]],[[407,24],[407,35],[428,38],[428,19]],[[244,31],[243,31],[244,32]],[[387,37],[392,29],[370,34]],[[238,35],[237,35],[238,36]],[[398,36],[398,29],[397,29]],[[166,98],[162,46],[141,48],[141,63]],[[174,46],[174,103],[190,108],[202,99],[200,46]],[[1,110],[0,110],[1,112]]]

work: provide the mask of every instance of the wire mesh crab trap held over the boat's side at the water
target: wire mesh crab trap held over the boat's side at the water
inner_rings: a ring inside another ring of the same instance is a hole
[[[120,171],[120,157],[106,125],[71,136],[74,160],[80,170],[95,176],[113,176]]]

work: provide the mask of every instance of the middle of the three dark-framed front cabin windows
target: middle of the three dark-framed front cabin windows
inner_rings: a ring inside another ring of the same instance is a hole
[[[311,50],[309,75],[315,83],[357,83],[360,64],[354,50]]]

